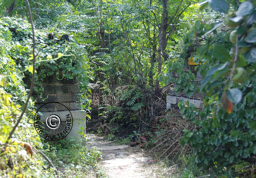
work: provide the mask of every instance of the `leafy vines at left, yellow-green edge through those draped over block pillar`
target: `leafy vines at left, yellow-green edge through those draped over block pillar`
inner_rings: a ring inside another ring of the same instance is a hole
[[[54,42],[48,40],[47,31],[35,30],[39,56],[36,59],[36,87],[35,90],[42,93],[42,83],[46,78],[57,77],[57,79],[71,78],[74,76],[80,81],[82,97],[86,100],[87,84],[91,73],[88,70],[87,52],[83,46],[75,41]],[[63,34],[63,32],[61,32]],[[22,107],[27,100],[28,87],[31,76],[31,51],[32,51],[31,26],[28,21],[17,17],[3,17],[0,19],[0,143],[6,141],[10,131],[14,127]],[[60,37],[58,37],[60,38]],[[40,50],[39,50],[40,49]],[[24,78],[24,76],[26,76]],[[24,82],[26,81],[26,82]],[[28,109],[16,128],[11,146],[1,152],[1,171],[3,177],[14,175],[22,177],[51,177],[54,170],[47,169],[47,162],[40,154],[29,157],[21,145],[21,142],[28,142],[32,148],[41,150],[42,142],[32,125],[33,102],[28,102]],[[85,108],[87,106],[85,105]],[[83,150],[86,153],[84,161],[95,166],[98,153]],[[92,154],[91,154],[92,153]],[[91,155],[91,156],[90,156]],[[82,156],[81,156],[82,157]],[[75,157],[74,157],[75,158]],[[77,157],[76,157],[77,158]],[[8,162],[12,159],[14,169],[9,167]],[[78,161],[77,160],[73,160]],[[35,164],[36,163],[36,164]],[[4,171],[3,171],[4,170]],[[36,172],[36,174],[35,174]]]

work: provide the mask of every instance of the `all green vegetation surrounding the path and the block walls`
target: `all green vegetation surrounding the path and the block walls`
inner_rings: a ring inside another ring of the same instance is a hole
[[[25,103],[33,59],[38,96],[45,80],[76,79],[89,113],[88,84],[100,85],[95,131],[108,134],[108,140],[143,140],[143,147],[154,148],[156,138],[169,136],[159,137],[167,126],[177,129],[168,125],[173,116],[165,112],[169,90],[204,95],[199,109],[179,103],[182,118],[175,119],[190,127],[176,133],[180,142],[167,142],[167,148],[175,143],[177,152],[161,157],[187,163],[184,177],[255,176],[255,1],[31,0],[35,45],[26,1],[0,0],[0,5],[1,176],[55,174],[28,145],[70,176],[98,170],[98,151],[69,140],[47,144],[31,126],[36,101]],[[193,71],[188,57],[198,64]],[[111,102],[104,101],[109,96]]]

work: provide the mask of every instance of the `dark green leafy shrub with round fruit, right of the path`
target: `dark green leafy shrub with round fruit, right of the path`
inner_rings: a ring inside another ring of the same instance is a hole
[[[209,3],[213,10],[228,13],[226,5],[222,4],[227,2],[211,0]],[[182,144],[189,143],[193,147],[190,164],[203,170],[211,168],[212,175],[233,177],[237,174],[235,165],[240,165],[243,161],[249,165],[255,164],[251,157],[256,154],[256,66],[253,54],[256,46],[254,37],[250,36],[255,28],[254,13],[255,5],[252,8],[250,1],[239,5],[235,13],[238,16],[231,19],[242,19],[235,28],[239,31],[236,33],[235,45],[227,42],[229,32],[216,31],[216,28],[206,30],[203,27],[207,24],[200,24],[199,29],[204,29],[200,36],[204,35],[205,44],[198,48],[196,57],[205,62],[205,65],[199,65],[198,68],[205,75],[200,89],[207,95],[201,111],[188,102],[179,103],[181,114],[197,126],[192,131],[184,130],[181,140]],[[249,17],[254,20],[248,20]],[[207,31],[213,32],[213,35]],[[194,38],[199,33],[200,30],[189,32]],[[189,40],[185,42],[191,44]],[[248,51],[242,51],[247,45]],[[207,63],[215,66],[209,67]],[[247,77],[244,81],[235,83],[232,79],[238,67],[246,70]]]

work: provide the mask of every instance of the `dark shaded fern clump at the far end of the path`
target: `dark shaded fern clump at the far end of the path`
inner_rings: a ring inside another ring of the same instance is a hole
[[[118,102],[114,106],[99,108],[99,116],[102,123],[110,125],[113,135],[120,135],[123,132],[130,134],[138,127],[139,115],[144,107],[142,91],[136,86],[127,86],[116,100]]]

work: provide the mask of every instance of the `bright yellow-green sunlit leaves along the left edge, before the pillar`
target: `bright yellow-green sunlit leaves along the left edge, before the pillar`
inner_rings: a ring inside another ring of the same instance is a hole
[[[13,41],[12,33],[9,30],[10,26],[6,20],[9,18],[0,19],[0,177],[23,177],[25,175],[40,177],[44,172],[43,157],[39,154],[34,154],[33,157],[28,156],[25,148],[20,145],[21,142],[29,142],[35,150],[43,147],[32,124],[33,102],[31,100],[28,102],[23,119],[11,138],[10,146],[6,149],[3,148],[3,143],[6,142],[28,97],[22,81],[24,74],[11,57],[11,49],[18,42]],[[14,23],[21,23],[21,21]],[[13,163],[13,169],[8,162]],[[45,174],[50,175],[51,171],[49,170]]]

